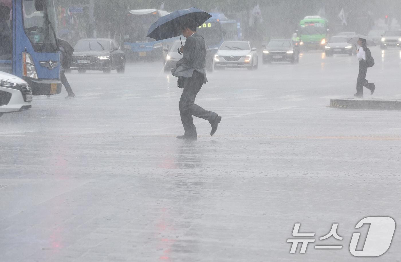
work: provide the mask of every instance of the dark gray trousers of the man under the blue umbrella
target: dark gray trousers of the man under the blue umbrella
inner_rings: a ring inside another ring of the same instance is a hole
[[[196,136],[196,127],[192,116],[208,120],[209,123],[213,123],[217,118],[215,112],[207,111],[195,104],[196,95],[201,90],[204,81],[204,74],[198,71],[194,71],[191,77],[184,80],[184,90],[180,98],[180,116],[187,136]]]

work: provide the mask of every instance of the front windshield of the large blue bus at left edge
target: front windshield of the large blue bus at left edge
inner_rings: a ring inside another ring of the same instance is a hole
[[[51,0],[22,0],[24,29],[32,44],[56,47],[56,14]]]

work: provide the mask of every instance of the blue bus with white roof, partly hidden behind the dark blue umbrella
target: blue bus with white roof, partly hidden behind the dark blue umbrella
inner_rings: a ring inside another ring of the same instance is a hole
[[[169,12],[157,9],[139,9],[128,12],[123,28],[123,49],[128,58],[161,60],[163,46],[179,40],[179,38],[170,38],[155,41],[153,38],[146,37],[150,26],[166,14]]]

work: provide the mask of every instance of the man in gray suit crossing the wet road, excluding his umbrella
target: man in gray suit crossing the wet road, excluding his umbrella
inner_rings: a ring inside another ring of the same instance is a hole
[[[180,116],[184,135],[178,139],[196,140],[196,127],[192,116],[208,120],[212,126],[210,135],[213,136],[221,121],[221,116],[207,111],[195,104],[196,94],[203,84],[206,84],[205,58],[206,43],[202,36],[196,34],[196,26],[182,26],[182,35],[186,37],[185,46],[181,46],[183,57],[178,60],[173,76],[178,77],[178,87],[183,88],[180,98]]]

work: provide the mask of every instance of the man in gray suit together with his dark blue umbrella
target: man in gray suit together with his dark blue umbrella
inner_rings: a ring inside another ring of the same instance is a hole
[[[192,116],[209,121],[212,127],[211,136],[215,134],[221,121],[221,116],[215,112],[207,111],[195,104],[196,95],[207,82],[206,43],[203,37],[196,33],[196,28],[209,18],[211,18],[210,14],[198,8],[177,10],[159,18],[148,31],[148,37],[155,40],[172,38],[181,34],[186,38],[185,46],[181,46],[178,50],[183,57],[178,60],[176,68],[172,70],[172,75],[178,77],[178,87],[183,89],[179,105],[184,135],[177,136],[179,139],[197,139]]]

